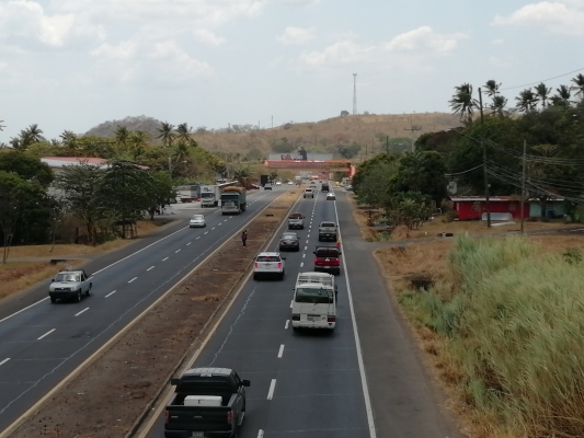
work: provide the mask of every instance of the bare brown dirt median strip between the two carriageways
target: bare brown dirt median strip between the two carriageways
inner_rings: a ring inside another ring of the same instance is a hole
[[[183,359],[199,346],[208,322],[298,196],[298,191],[290,191],[274,201],[248,227],[248,246],[238,238],[229,241],[10,437],[125,436]]]

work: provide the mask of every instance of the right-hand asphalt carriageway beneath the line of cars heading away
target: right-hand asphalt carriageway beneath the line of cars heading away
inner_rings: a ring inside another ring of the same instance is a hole
[[[314,199],[300,199],[294,208],[305,215],[305,230],[298,231],[301,251],[284,253],[285,279],[253,280],[250,276],[194,362],[196,367],[233,368],[242,379],[251,380],[242,438],[375,437],[346,266],[335,277],[339,306],[332,334],[294,332],[289,321],[297,274],[313,270],[318,224],[339,222],[336,203],[317,193]],[[285,229],[284,223],[279,233]],[[268,250],[277,251],[277,242],[271,242]],[[146,429],[142,437],[163,436],[162,411]]]

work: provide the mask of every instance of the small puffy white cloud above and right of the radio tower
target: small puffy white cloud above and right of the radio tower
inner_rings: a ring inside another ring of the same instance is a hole
[[[393,37],[386,44],[390,51],[421,51],[431,50],[447,53],[454,50],[458,42],[466,35],[457,33],[451,35],[438,34],[430,26],[421,26]]]

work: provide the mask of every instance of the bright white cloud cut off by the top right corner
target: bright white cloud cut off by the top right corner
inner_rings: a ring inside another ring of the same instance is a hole
[[[584,34],[584,11],[582,1],[541,1],[527,4],[508,16],[496,15],[494,25],[533,26],[549,32],[582,35]]]

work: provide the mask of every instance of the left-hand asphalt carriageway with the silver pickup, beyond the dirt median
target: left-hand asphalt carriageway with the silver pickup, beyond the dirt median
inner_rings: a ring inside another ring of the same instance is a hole
[[[285,187],[287,188],[287,187]],[[188,217],[162,233],[89,262],[90,297],[50,304],[48,283],[0,306],[0,430],[5,429],[112,336],[232,238],[284,193],[257,192],[242,215],[198,209],[207,227]],[[191,210],[191,214],[195,210]],[[5,306],[4,306],[5,304]]]

